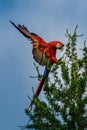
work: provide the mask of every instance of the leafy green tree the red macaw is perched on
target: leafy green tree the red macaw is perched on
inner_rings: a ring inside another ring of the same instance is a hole
[[[84,130],[87,128],[87,47],[79,49],[77,27],[71,35],[66,31],[68,42],[65,53],[51,67],[51,76],[44,84],[46,100],[35,97],[33,112],[25,109],[29,116],[25,129],[35,130]],[[53,75],[53,76],[52,76]]]

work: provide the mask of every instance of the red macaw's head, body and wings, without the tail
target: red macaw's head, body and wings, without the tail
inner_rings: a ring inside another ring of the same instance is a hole
[[[25,37],[30,39],[33,44],[33,57],[40,65],[46,65],[47,62],[53,64],[56,62],[56,49],[62,49],[64,44],[60,41],[45,42],[40,36],[29,32],[24,25],[15,25],[10,21]]]

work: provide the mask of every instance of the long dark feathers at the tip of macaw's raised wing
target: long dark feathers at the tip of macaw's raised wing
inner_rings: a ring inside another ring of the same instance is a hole
[[[30,38],[31,40],[35,40],[33,37],[32,37],[32,35],[31,35],[31,33],[29,32],[29,30],[24,26],[24,25],[20,25],[20,24],[18,24],[18,25],[16,25],[15,23],[13,23],[12,21],[10,21],[10,23],[17,29],[17,30],[19,30],[19,32],[21,32],[25,37],[27,37],[27,38]]]

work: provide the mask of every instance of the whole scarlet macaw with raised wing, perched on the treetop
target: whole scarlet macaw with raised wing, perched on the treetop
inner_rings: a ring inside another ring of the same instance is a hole
[[[63,50],[64,44],[60,41],[46,42],[37,34],[30,32],[24,25],[15,25],[12,21],[10,21],[10,23],[17,30],[19,30],[26,38],[31,40],[31,43],[33,45],[33,58],[37,63],[39,63],[39,65],[45,66],[44,74],[34,94],[34,96],[38,97],[44,84],[44,81],[49,74],[48,64],[53,65],[54,63],[56,63],[56,50]],[[30,109],[32,109],[33,102],[34,101],[32,100],[31,104],[29,105]]]

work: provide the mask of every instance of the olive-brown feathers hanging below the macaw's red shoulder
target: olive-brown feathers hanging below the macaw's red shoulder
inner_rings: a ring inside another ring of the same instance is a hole
[[[47,65],[50,62],[48,57],[45,54],[45,51],[40,51],[40,49],[38,47],[37,48],[33,47],[32,53],[33,53],[34,59],[40,65],[44,66],[44,65]]]

